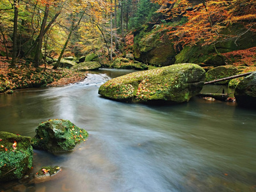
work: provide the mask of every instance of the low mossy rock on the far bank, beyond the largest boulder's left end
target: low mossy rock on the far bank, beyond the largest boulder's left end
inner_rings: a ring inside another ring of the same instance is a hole
[[[129,58],[116,58],[115,61],[113,61],[112,68],[134,68],[138,70],[146,70],[148,69],[148,66],[144,63],[140,63],[139,61],[133,61]]]

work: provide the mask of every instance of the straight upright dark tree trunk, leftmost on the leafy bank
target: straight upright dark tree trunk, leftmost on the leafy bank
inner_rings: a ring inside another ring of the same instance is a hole
[[[16,58],[17,58],[17,52],[18,52],[18,47],[17,47],[17,31],[18,31],[18,14],[19,10],[17,8],[19,1],[13,0],[13,5],[14,5],[14,18],[13,18],[13,52],[12,52],[12,63],[10,67],[15,67],[16,64]]]

